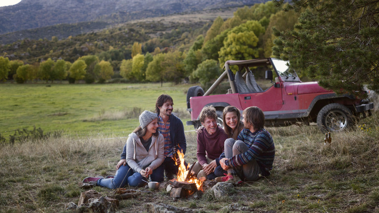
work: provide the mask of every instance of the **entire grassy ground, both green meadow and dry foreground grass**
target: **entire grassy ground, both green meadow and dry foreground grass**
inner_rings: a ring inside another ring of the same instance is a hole
[[[153,110],[161,93],[172,95],[176,109],[184,110],[185,90],[189,88],[188,85],[150,87],[150,84],[0,86],[1,131],[7,126],[3,124],[7,119],[15,119],[9,123],[14,125],[12,128],[39,124],[44,130],[69,130],[59,137],[0,146],[0,212],[6,213],[65,212],[65,205],[77,203],[80,193],[85,191],[78,188],[77,182],[87,176],[115,173],[126,142],[123,137],[135,126],[122,127],[137,119],[121,116],[111,120],[110,115],[132,107],[146,106],[141,108]],[[12,111],[15,107],[19,111]],[[62,115],[52,116],[54,113]],[[101,119],[102,115],[107,119]],[[223,197],[206,191],[199,199],[174,201],[164,190],[142,193],[121,200],[119,212],[143,213],[146,203],[165,203],[208,213],[379,212],[378,118],[376,111],[350,132],[333,133],[330,145],[324,145],[324,135],[316,126],[267,128],[276,145],[270,177],[235,187]],[[59,127],[52,125],[59,119]],[[96,122],[89,122],[91,119]],[[93,125],[91,132],[81,125],[88,123]],[[80,133],[75,133],[76,128]],[[125,133],[115,133],[116,129]],[[114,138],[105,139],[110,135]],[[186,138],[185,158],[191,162],[196,159],[195,133],[186,132]],[[94,189],[102,195],[113,193],[102,187]]]

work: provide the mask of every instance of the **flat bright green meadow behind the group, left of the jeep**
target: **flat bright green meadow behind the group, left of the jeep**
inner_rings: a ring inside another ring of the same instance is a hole
[[[160,84],[0,84],[0,134],[34,126],[70,136],[126,136],[143,110],[155,111],[156,98],[169,94],[174,112],[189,120],[186,92],[191,85]],[[183,121],[185,122],[185,121]]]

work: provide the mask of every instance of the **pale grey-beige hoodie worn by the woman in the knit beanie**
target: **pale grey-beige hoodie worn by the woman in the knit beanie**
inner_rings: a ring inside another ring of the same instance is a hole
[[[149,151],[146,151],[137,134],[131,133],[124,145],[121,159],[126,159],[126,163],[130,168],[138,173],[148,166],[156,169],[164,160],[164,144],[162,134],[153,135]]]

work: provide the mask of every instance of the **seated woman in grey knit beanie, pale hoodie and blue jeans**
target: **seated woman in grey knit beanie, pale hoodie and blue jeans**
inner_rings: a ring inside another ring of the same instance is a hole
[[[150,111],[139,116],[139,126],[129,135],[121,160],[116,166],[116,175],[109,178],[86,177],[82,182],[110,189],[142,186],[150,176],[152,181],[162,182],[159,166],[164,160],[164,138],[159,134],[158,117]]]

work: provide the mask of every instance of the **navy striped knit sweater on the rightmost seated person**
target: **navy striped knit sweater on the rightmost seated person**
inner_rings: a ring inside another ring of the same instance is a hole
[[[242,129],[237,140],[243,141],[247,147],[250,147],[245,153],[233,156],[229,160],[225,160],[225,164],[230,167],[242,166],[252,160],[257,160],[257,163],[262,171],[263,176],[270,175],[270,170],[273,169],[275,157],[275,145],[273,138],[266,129],[260,129],[252,133],[249,129]],[[225,154],[221,154],[220,159],[224,158]]]

